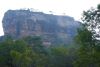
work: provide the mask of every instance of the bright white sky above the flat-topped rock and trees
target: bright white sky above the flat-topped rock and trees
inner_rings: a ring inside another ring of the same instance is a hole
[[[2,19],[9,9],[33,8],[56,15],[68,15],[80,20],[82,12],[96,7],[100,0],[0,0],[0,36],[3,35]]]

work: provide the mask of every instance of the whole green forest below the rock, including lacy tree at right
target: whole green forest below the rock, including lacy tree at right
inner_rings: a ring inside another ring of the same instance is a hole
[[[82,21],[70,47],[46,47],[37,36],[7,36],[0,42],[0,67],[100,67],[100,5],[84,11]]]

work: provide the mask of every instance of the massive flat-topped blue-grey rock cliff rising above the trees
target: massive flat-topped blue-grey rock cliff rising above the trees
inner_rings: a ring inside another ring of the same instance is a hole
[[[8,10],[2,23],[5,35],[13,38],[41,36],[44,43],[49,44],[71,43],[79,27],[72,17],[30,10]]]

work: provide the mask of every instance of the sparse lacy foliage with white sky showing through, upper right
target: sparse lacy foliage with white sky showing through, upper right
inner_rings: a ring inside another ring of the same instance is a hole
[[[99,37],[95,29],[100,29],[100,4],[83,12],[82,21],[85,27],[93,33],[93,38]]]

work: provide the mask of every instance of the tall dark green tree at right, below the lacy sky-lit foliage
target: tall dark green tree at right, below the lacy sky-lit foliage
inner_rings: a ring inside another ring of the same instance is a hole
[[[82,28],[77,35],[77,42],[80,47],[77,51],[77,60],[74,63],[75,67],[99,67],[92,33],[86,28]]]

